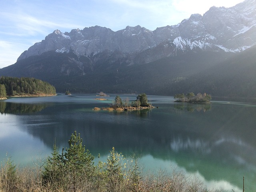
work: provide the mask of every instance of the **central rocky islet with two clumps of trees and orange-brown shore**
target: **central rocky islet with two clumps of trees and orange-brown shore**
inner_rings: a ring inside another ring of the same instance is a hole
[[[148,103],[148,97],[145,93],[138,94],[135,101],[130,104],[129,99],[126,98],[124,101],[120,96],[116,96],[113,104],[110,107],[98,108],[94,107],[93,110],[108,110],[108,111],[135,111],[135,110],[147,110],[155,108]]]

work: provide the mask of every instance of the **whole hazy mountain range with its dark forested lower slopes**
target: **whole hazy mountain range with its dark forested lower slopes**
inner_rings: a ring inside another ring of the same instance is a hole
[[[256,0],[245,0],[154,31],[54,30],[0,75],[39,78],[57,92],[256,97],[255,50]]]

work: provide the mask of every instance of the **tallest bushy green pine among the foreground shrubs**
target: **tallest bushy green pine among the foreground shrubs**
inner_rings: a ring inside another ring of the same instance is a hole
[[[68,140],[68,144],[69,147],[65,152],[64,148],[62,149],[62,154],[59,154],[54,144],[52,156],[46,160],[43,180],[47,184],[55,184],[54,191],[58,188],[76,192],[87,180],[90,180],[95,172],[94,156],[89,150],[85,150],[80,134],[77,136],[75,131]]]

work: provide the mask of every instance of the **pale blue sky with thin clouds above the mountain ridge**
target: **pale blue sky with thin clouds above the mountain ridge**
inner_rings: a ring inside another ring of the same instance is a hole
[[[0,68],[59,29],[90,26],[118,31],[140,25],[149,30],[176,25],[211,6],[231,7],[243,0],[1,0]]]

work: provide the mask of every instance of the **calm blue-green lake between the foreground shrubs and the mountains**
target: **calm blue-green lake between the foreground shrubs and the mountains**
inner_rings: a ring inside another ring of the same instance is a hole
[[[148,111],[95,111],[116,95],[94,94],[10,98],[0,101],[0,160],[11,156],[20,166],[44,160],[56,145],[68,146],[76,130],[95,156],[109,151],[140,154],[144,170],[173,167],[198,176],[207,187],[256,189],[256,105],[212,101],[210,105],[175,103],[172,96],[148,96]],[[119,95],[136,100],[137,95]]]

